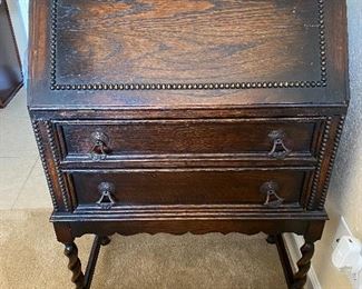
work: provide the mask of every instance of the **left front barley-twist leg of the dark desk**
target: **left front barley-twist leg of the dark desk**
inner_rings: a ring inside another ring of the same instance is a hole
[[[75,242],[66,243],[65,255],[69,258],[68,268],[72,272],[71,281],[77,286],[77,289],[82,289],[85,286],[85,276],[81,271],[78,248]]]

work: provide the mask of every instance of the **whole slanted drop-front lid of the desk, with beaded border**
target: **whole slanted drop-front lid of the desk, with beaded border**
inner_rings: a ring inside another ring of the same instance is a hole
[[[33,0],[29,104],[345,106],[341,0]]]

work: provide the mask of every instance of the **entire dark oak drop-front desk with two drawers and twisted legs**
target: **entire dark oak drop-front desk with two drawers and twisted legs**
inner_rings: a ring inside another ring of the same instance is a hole
[[[263,231],[304,286],[349,103],[344,1],[33,0],[30,36],[30,116],[77,288],[116,232]],[[283,232],[304,236],[296,272]]]

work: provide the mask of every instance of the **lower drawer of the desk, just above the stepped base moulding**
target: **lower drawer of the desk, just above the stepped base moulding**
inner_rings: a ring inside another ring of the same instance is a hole
[[[301,207],[309,172],[307,169],[92,170],[71,171],[68,178],[78,206],[256,205],[275,208]]]

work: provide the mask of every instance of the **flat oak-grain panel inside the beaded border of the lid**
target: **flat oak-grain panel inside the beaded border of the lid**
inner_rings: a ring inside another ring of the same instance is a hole
[[[59,83],[320,80],[317,1],[59,0]]]

